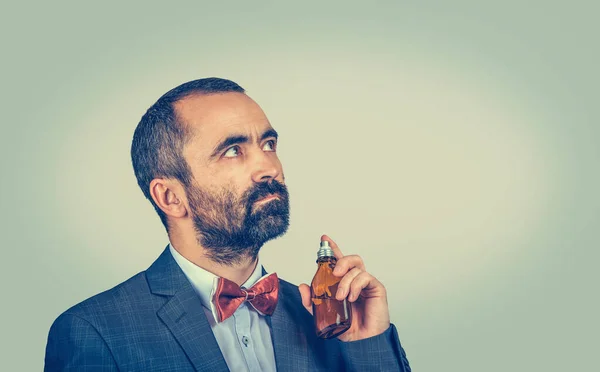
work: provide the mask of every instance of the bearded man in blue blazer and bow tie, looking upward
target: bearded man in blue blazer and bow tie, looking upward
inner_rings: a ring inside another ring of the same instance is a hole
[[[310,288],[260,264],[260,248],[289,225],[277,139],[230,80],[194,80],[152,105],[131,158],[169,244],[147,270],[54,321],[44,370],[410,371],[386,290],[359,256],[321,237],[338,259],[336,297],[353,312],[328,340],[316,336]]]

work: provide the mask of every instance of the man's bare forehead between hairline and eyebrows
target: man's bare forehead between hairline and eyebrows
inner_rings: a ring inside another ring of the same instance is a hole
[[[243,93],[192,95],[174,104],[180,122],[191,132],[194,151],[210,152],[230,135],[256,138],[271,124],[260,106]]]

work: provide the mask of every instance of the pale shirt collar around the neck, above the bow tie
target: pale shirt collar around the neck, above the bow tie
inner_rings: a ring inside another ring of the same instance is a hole
[[[202,301],[202,305],[211,310],[215,319],[217,319],[216,311],[214,308],[214,304],[212,302],[212,297],[214,294],[214,290],[217,287],[217,282],[219,277],[210,271],[204,270],[200,266],[194,264],[187,258],[183,257],[177,250],[173,247],[172,244],[169,244],[169,251],[171,255],[175,259],[175,262],[179,265],[185,276],[188,278],[192,287],[198,295],[200,296],[200,300]],[[260,262],[260,257],[254,268],[252,274],[248,280],[244,282],[241,286],[243,288],[250,288],[262,277],[262,265]]]

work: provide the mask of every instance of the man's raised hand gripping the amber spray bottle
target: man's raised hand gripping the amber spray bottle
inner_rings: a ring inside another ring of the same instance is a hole
[[[390,326],[385,287],[365,271],[365,264],[360,256],[344,256],[331,238],[323,235],[321,241],[325,240],[329,242],[337,258],[333,275],[342,277],[335,297],[340,301],[344,298],[348,299],[352,306],[352,325],[350,329],[339,335],[338,339],[357,341],[385,332]],[[312,314],[310,287],[300,284],[298,288],[302,304]]]

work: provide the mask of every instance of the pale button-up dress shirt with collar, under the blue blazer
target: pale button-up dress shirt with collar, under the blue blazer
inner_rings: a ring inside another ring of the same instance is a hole
[[[213,288],[216,288],[219,277],[183,257],[171,244],[169,250],[202,300],[204,313],[227,367],[236,372],[275,371],[275,353],[265,316],[244,302],[232,316],[218,323],[211,300]],[[250,288],[261,277],[262,265],[259,260],[254,272],[242,287]]]

